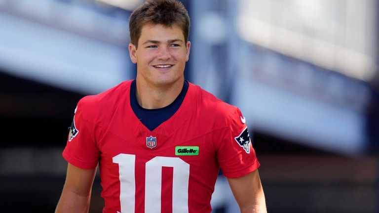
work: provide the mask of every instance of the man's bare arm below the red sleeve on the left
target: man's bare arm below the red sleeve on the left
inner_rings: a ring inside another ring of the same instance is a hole
[[[69,163],[55,213],[88,213],[95,174],[96,168],[84,170]]]

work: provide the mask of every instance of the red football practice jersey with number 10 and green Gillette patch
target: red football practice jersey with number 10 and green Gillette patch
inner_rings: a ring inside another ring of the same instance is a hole
[[[237,107],[189,83],[178,111],[150,131],[130,106],[131,82],[78,102],[63,151],[76,167],[99,164],[103,213],[209,213],[220,167],[229,178],[259,167]]]

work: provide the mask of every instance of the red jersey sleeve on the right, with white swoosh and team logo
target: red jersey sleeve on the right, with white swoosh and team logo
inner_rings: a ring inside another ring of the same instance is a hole
[[[260,163],[251,143],[246,120],[238,108],[220,136],[217,158],[226,177],[241,177],[258,169]]]

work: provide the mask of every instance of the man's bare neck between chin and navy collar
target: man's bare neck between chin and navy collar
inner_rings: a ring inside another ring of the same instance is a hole
[[[170,85],[154,86],[137,77],[136,96],[138,104],[145,109],[159,109],[170,105],[183,89],[184,79]]]

